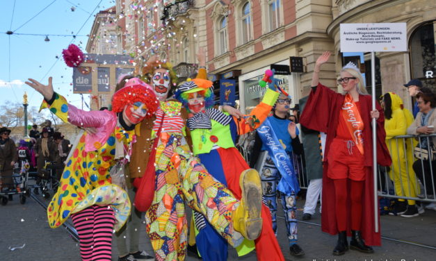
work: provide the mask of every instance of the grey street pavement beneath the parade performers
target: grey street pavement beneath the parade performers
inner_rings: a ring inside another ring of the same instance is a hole
[[[49,200],[37,196],[45,202]],[[280,204],[277,204],[280,205]],[[298,200],[298,220],[302,216],[303,200]],[[321,217],[314,214],[309,222],[298,223],[298,244],[305,251],[301,258],[289,254],[284,219],[278,211],[278,240],[286,260],[294,261],[433,261],[436,260],[436,211],[426,210],[419,217],[404,218],[395,216],[381,217],[382,246],[374,247],[375,253],[364,254],[348,251],[345,255],[334,256],[332,249],[337,237],[321,232]],[[47,224],[47,214],[34,199],[28,198],[24,205],[18,197],[7,205],[0,205],[0,261],[79,261],[79,245],[63,227],[52,229]],[[115,242],[114,242],[115,243]],[[25,246],[22,249],[13,247]],[[425,245],[429,247],[424,247]],[[140,249],[153,253],[150,241],[141,231]],[[113,260],[117,260],[118,250],[113,245]],[[186,260],[198,260],[188,254]],[[228,260],[257,260],[255,253],[237,258],[234,250],[229,251]],[[273,261],[273,260],[271,260]]]

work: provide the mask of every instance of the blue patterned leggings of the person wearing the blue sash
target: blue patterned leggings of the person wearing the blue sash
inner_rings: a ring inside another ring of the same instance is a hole
[[[287,196],[282,192],[277,191],[277,184],[282,177],[280,172],[275,167],[274,162],[270,156],[266,158],[264,168],[261,171],[262,181],[262,196],[264,203],[268,206],[273,218],[273,230],[277,235],[277,193],[280,194],[282,207],[284,211],[284,220],[286,222],[286,233],[288,235],[289,246],[297,242],[297,219],[296,219],[296,194],[292,192]]]

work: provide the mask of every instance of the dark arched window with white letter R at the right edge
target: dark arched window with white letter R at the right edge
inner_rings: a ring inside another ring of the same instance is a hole
[[[412,79],[420,79],[433,91],[436,79],[435,32],[436,20],[427,22],[410,35],[410,67]]]

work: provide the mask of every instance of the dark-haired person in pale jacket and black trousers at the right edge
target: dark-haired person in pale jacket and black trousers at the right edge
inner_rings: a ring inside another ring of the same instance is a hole
[[[436,97],[433,92],[420,92],[417,94],[419,112],[414,122],[407,128],[409,135],[430,135],[436,133]],[[436,186],[436,136],[419,137],[419,144],[414,148],[414,155],[417,161],[413,163],[413,169],[419,180],[424,185],[424,195],[435,196],[434,187]],[[427,206],[433,209],[436,205]],[[414,217],[418,214],[415,205],[407,205],[407,217]],[[402,216],[403,216],[402,214]],[[404,216],[403,216],[404,217]]]

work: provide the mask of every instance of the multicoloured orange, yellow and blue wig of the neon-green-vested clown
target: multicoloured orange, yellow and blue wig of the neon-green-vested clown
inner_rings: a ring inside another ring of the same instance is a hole
[[[213,94],[213,83],[209,80],[204,80],[201,78],[194,78],[192,81],[187,81],[177,87],[175,92],[175,98],[180,101],[186,110],[189,111],[188,108],[188,99],[193,97],[194,92],[200,92],[202,96],[204,96],[204,107],[212,108],[215,104],[213,99],[215,95]]]

